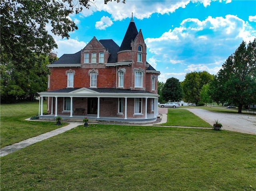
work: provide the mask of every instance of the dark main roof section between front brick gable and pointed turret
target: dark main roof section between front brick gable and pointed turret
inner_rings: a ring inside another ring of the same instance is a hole
[[[110,53],[110,56],[108,58],[108,63],[116,63],[117,62],[117,52],[119,50],[119,46],[112,40],[99,40],[100,43],[108,49],[108,52]]]

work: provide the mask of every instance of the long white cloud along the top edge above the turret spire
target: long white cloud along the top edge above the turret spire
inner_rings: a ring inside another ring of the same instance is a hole
[[[202,3],[205,7],[210,6],[210,3],[215,0],[165,0],[165,1],[144,1],[144,0],[126,0],[125,4],[122,2],[108,2],[104,4],[103,0],[90,2],[90,9],[84,8],[82,10],[83,16],[90,16],[97,11],[105,11],[111,14],[111,18],[114,21],[124,20],[131,17],[131,13],[134,13],[134,17],[138,19],[149,18],[152,14],[170,14],[175,12],[179,8],[185,8],[190,2]],[[221,2],[221,0],[219,0]],[[224,0],[225,1],[225,0]],[[231,0],[226,0],[226,3]]]

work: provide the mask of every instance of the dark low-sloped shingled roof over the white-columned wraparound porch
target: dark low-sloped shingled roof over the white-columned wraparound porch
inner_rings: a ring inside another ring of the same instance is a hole
[[[47,91],[44,93],[70,93],[72,91],[78,90],[80,88],[64,88],[58,90]],[[87,88],[98,93],[151,93],[143,90],[126,90],[126,89],[116,89],[116,88]],[[153,94],[153,93],[152,93]]]

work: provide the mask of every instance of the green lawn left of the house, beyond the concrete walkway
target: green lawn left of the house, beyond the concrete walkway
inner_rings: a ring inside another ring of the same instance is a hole
[[[26,118],[38,115],[39,102],[1,104],[1,142],[0,148],[38,136],[61,126],[56,122],[25,121]],[[47,103],[43,104],[46,112]]]

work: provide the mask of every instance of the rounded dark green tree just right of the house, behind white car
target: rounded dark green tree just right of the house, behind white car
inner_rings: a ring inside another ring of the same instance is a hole
[[[178,102],[182,99],[182,88],[180,81],[174,77],[168,78],[162,89],[164,100]]]

